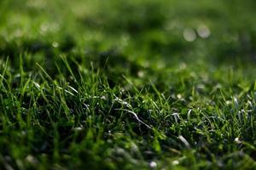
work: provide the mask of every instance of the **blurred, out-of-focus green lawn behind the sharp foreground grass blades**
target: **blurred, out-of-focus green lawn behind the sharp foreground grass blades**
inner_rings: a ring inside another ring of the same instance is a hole
[[[249,65],[256,60],[255,7],[253,0],[1,0],[0,56],[15,65],[26,54],[28,69],[60,54],[99,67],[107,58],[145,68]]]

